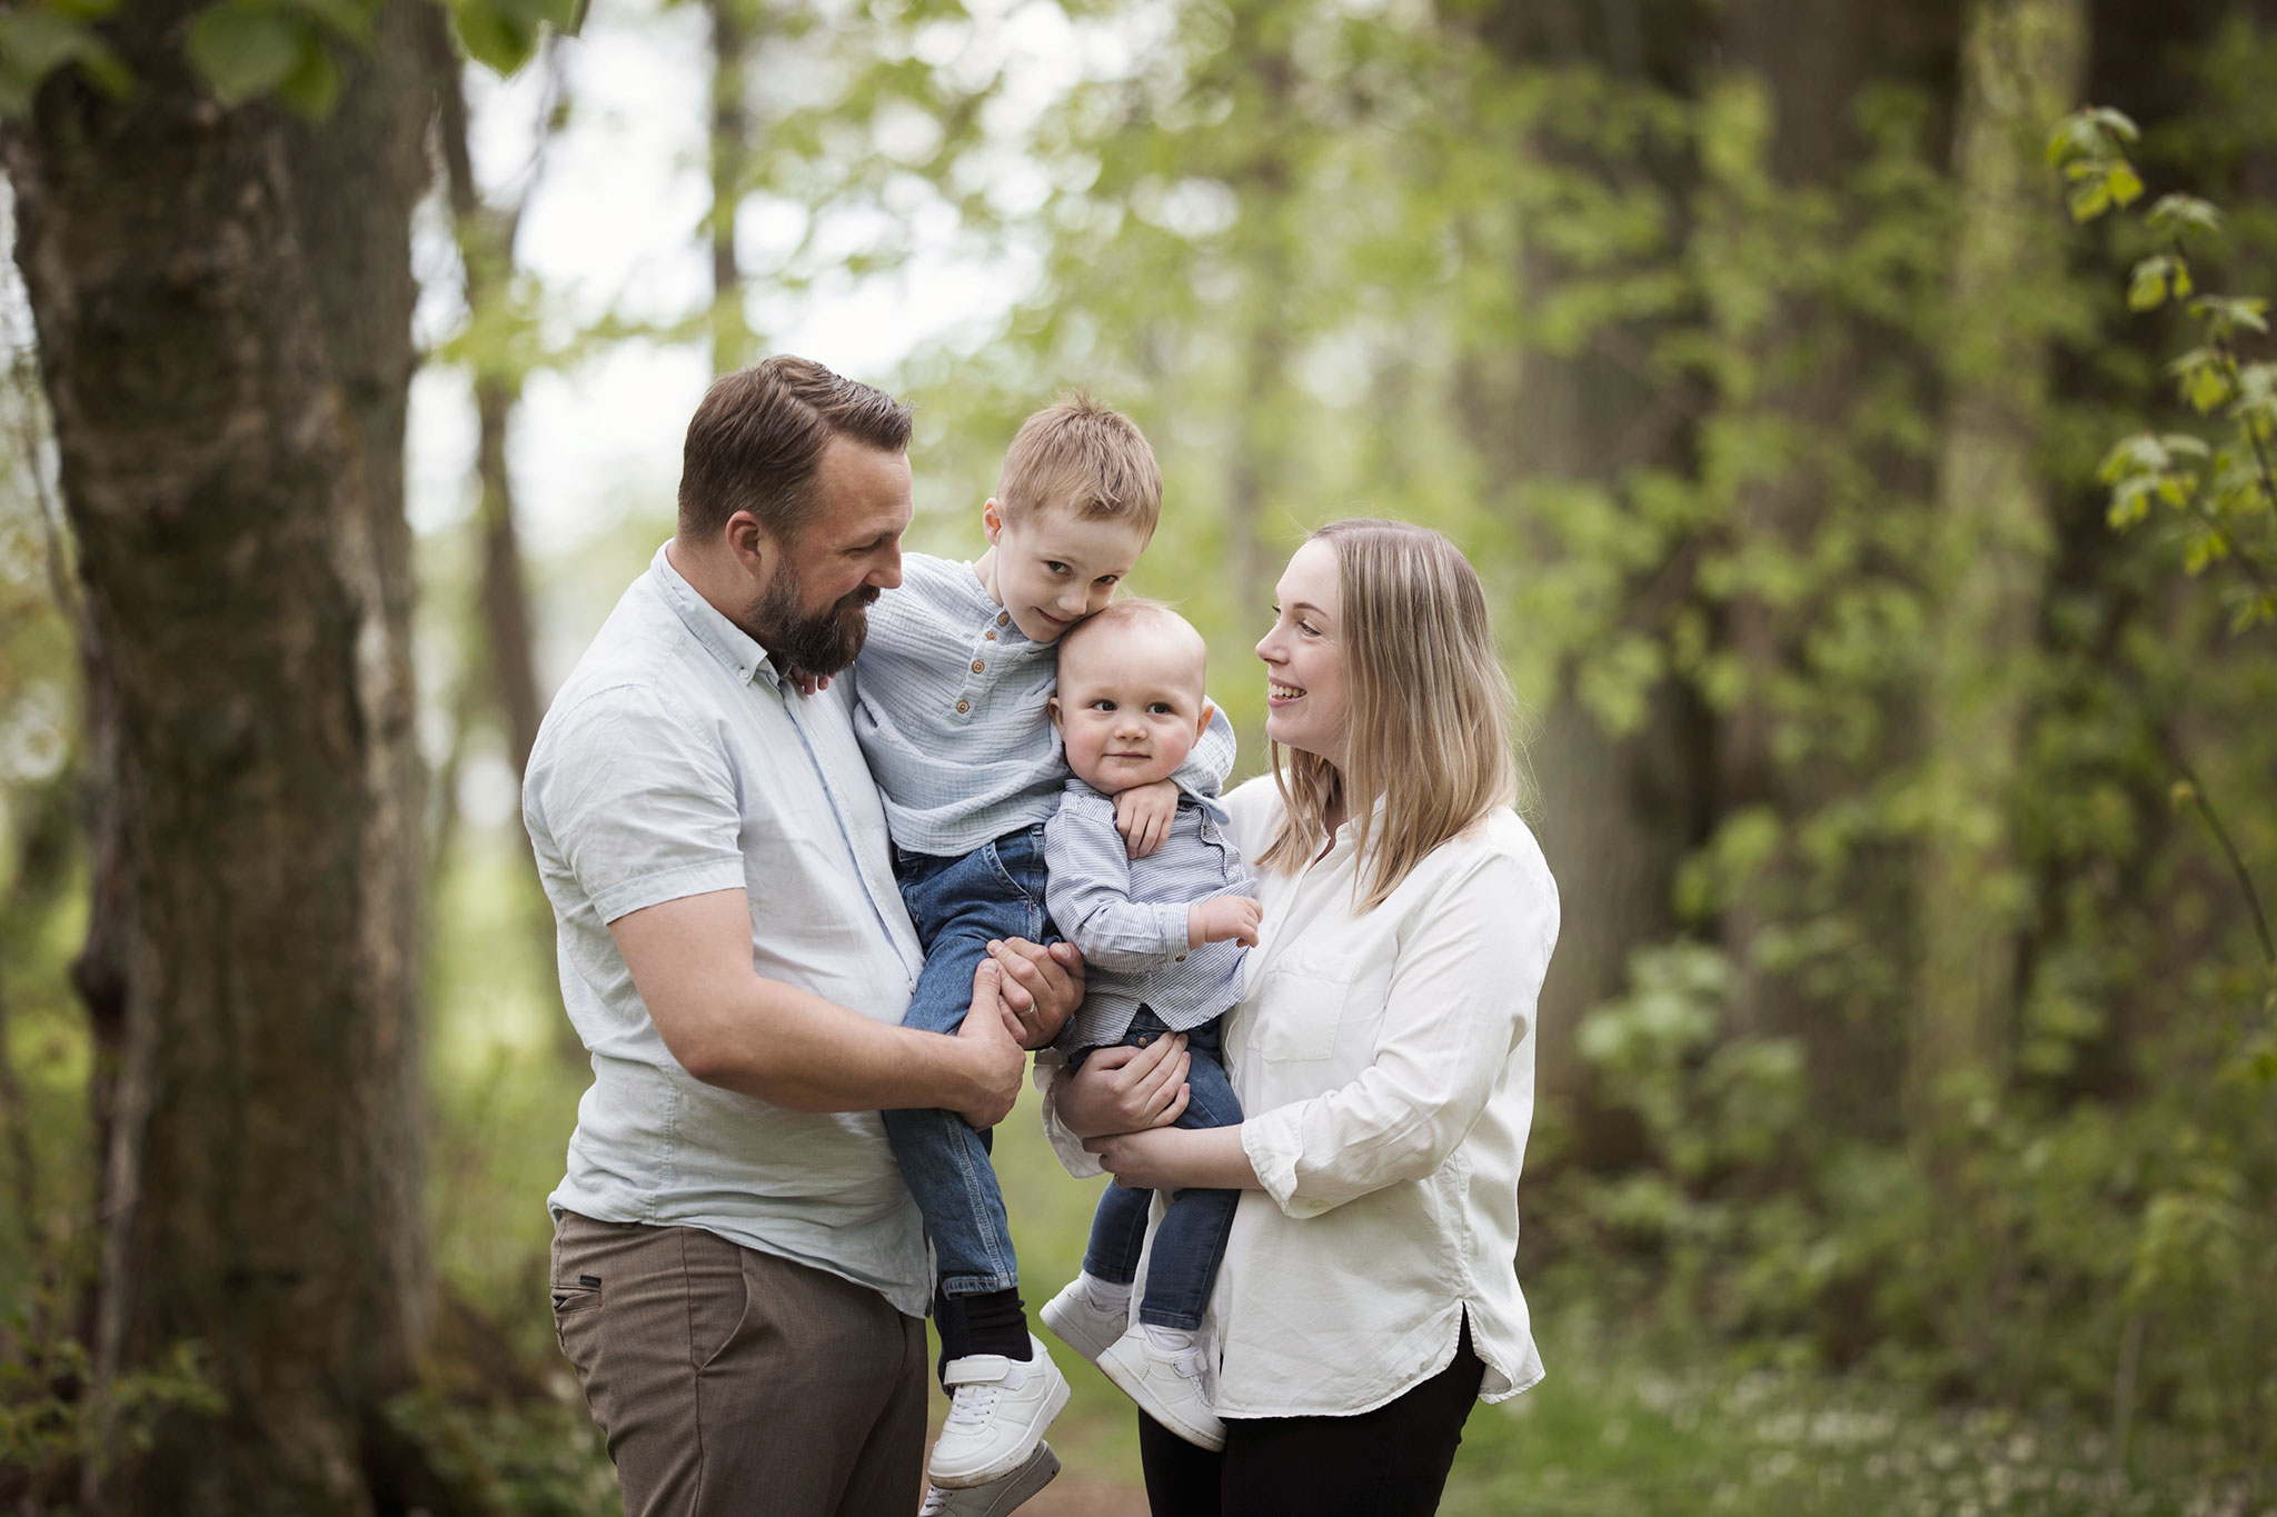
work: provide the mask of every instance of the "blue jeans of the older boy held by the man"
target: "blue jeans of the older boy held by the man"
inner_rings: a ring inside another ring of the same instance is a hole
[[[924,969],[902,1026],[954,1033],[972,1005],[972,971],[988,955],[990,937],[1047,942],[1043,826],[1006,832],[963,857],[897,848],[895,873],[924,944]],[[934,1235],[940,1294],[1016,1290],[1020,1262],[1004,1224],[1004,1192],[988,1162],[988,1133],[943,1110],[899,1108],[883,1117],[893,1158]]]

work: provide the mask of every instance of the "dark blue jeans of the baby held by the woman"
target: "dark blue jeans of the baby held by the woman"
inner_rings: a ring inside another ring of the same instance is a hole
[[[1143,1048],[1170,1028],[1148,1008],[1138,1008],[1123,1046]],[[1077,1048],[1068,1060],[1068,1073],[1084,1067],[1098,1048]],[[1179,1112],[1182,1128],[1230,1128],[1241,1121],[1241,1101],[1225,1078],[1225,1062],[1218,1055],[1218,1023],[1205,1021],[1186,1033],[1186,1110]],[[1100,1196],[1100,1210],[1091,1217],[1091,1246],[1084,1249],[1084,1274],[1116,1285],[1129,1285],[1138,1276],[1138,1249],[1145,1244],[1145,1215],[1154,1201],[1150,1189],[1125,1189],[1109,1185]],[[1225,1258],[1225,1237],[1234,1230],[1236,1189],[1182,1189],[1164,1212],[1154,1233],[1154,1258],[1148,1260],[1145,1296],[1138,1301],[1138,1321],[1157,1328],[1202,1326],[1209,1308],[1209,1287],[1218,1278],[1218,1260]]]

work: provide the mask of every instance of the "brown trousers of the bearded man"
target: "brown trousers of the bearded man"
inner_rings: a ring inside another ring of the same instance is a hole
[[[626,1517],[909,1517],[924,1321],[697,1228],[553,1228],[553,1333]]]

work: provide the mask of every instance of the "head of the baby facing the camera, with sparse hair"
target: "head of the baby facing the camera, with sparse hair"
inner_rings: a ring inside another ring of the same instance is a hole
[[[1209,726],[1200,650],[1173,632],[1100,628],[1059,655],[1052,721],[1068,769],[1102,794],[1168,780]]]

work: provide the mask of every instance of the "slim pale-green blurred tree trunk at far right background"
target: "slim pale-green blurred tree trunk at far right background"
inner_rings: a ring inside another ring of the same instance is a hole
[[[1958,1083],[1999,1083],[2027,919],[2013,846],[2022,716],[2052,525],[2033,478],[2049,332],[2036,291],[2063,275],[2040,143],[2079,96],[2083,0],[1979,0],[1954,127],[1951,400],[1938,478],[1938,641],[1926,689],[1931,828],[1922,857],[1920,1023],[1908,1101],[1926,1121]]]

